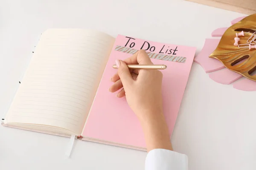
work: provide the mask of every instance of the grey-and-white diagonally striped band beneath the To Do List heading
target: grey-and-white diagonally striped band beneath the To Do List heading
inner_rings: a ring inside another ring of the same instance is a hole
[[[135,54],[138,50],[134,48],[123,47],[121,45],[116,45],[115,51],[128,53],[128,54]],[[151,52],[147,52],[147,54],[152,59],[161,59],[164,61],[181,62],[181,63],[186,62],[186,57],[171,56],[171,55],[157,54],[157,53],[151,53]]]

